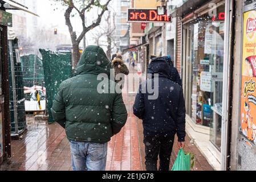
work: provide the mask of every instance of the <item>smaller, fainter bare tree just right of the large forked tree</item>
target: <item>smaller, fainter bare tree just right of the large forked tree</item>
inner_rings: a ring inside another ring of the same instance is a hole
[[[103,16],[104,21],[102,21],[100,26],[95,28],[92,33],[97,46],[107,47],[108,59],[111,59],[112,49],[116,47],[116,41],[113,36],[116,30],[115,16],[116,13],[114,11],[108,11],[108,13]]]

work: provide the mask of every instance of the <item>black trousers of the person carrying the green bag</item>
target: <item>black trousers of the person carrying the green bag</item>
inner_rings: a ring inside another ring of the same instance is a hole
[[[173,134],[155,136],[144,135],[145,164],[147,171],[157,171],[158,156],[160,159],[159,171],[169,171],[174,136]]]

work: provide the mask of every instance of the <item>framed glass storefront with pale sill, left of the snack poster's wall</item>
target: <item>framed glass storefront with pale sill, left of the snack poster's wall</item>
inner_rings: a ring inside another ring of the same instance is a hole
[[[226,163],[223,158],[228,140],[226,125],[222,126],[228,115],[230,79],[226,71],[230,68],[228,46],[225,49],[229,45],[226,12],[225,1],[187,1],[177,13],[182,27],[181,75],[187,134],[216,170],[225,168],[222,164]]]

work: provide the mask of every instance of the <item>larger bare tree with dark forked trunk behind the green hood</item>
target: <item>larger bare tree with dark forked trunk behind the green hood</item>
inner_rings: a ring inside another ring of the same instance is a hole
[[[70,32],[71,36],[71,42],[72,42],[72,67],[75,67],[76,64],[78,64],[78,61],[80,59],[80,53],[79,53],[79,44],[86,35],[86,33],[93,28],[99,26],[101,22],[101,18],[105,11],[108,10],[108,4],[111,0],[106,0],[107,2],[104,5],[100,4],[100,0],[86,0],[84,2],[79,0],[55,0],[62,2],[64,6],[67,6],[67,9],[64,13],[66,25],[68,27],[68,31]],[[94,22],[92,22],[90,25],[86,25],[86,18],[85,13],[92,10],[94,7],[98,7],[101,9],[101,12],[97,14],[97,18]],[[80,35],[76,35],[76,32],[74,31],[74,28],[71,23],[71,13],[75,10],[76,13],[79,14],[80,19],[82,20],[82,27],[83,30],[80,33]]]

